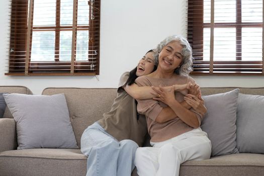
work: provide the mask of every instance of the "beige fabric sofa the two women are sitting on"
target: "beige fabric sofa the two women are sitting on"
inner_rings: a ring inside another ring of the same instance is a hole
[[[205,87],[202,95],[226,93],[236,87]],[[87,126],[102,118],[110,110],[116,89],[84,89],[75,87],[48,87],[42,95],[63,93],[70,122],[80,147],[80,137]],[[264,95],[264,87],[239,88],[242,94]],[[24,86],[0,86],[0,93],[32,94]],[[226,105],[228,107],[228,105]],[[147,143],[147,142],[146,142]],[[16,123],[6,108],[0,118],[0,175],[85,175],[86,157],[80,149],[34,148],[17,150]],[[132,175],[136,176],[136,168]],[[206,160],[190,160],[181,164],[180,175],[264,175],[264,154],[238,153],[212,156]]]

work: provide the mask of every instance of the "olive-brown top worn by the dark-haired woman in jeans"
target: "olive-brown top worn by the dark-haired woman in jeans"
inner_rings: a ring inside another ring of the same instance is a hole
[[[146,120],[144,115],[137,118],[135,99],[123,89],[128,77],[129,72],[123,73],[120,77],[117,97],[112,108],[98,123],[118,141],[131,139],[142,146],[147,134]]]

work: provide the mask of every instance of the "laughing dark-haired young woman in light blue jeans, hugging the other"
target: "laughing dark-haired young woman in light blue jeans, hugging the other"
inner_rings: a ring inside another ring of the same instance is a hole
[[[153,53],[153,50],[148,51],[136,68],[122,74],[118,94],[110,112],[84,130],[81,136],[81,152],[89,156],[86,175],[123,176],[130,175],[134,169],[136,148],[142,146],[147,134],[146,119],[137,113],[134,98],[150,99],[156,95],[151,87],[138,87],[134,81],[156,69]],[[191,92],[199,92],[192,86],[190,83],[173,85],[173,90],[182,91],[187,87]],[[187,102],[183,102],[183,106],[188,107]]]

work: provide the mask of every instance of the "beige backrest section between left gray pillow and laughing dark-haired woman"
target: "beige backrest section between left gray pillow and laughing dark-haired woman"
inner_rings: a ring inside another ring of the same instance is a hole
[[[87,126],[103,118],[111,109],[117,96],[117,89],[85,89],[48,87],[42,95],[64,93],[70,115],[71,125],[80,147],[80,138]]]

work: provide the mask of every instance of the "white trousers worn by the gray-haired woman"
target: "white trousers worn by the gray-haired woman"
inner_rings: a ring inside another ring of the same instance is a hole
[[[201,128],[150,144],[153,147],[136,150],[135,165],[139,176],[178,176],[181,163],[209,159],[212,148],[211,141]]]

